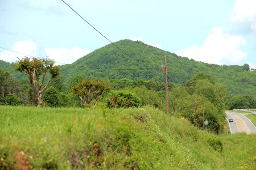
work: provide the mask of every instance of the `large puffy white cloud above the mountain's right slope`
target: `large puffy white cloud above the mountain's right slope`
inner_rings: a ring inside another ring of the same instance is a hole
[[[243,37],[229,35],[222,28],[216,27],[209,33],[203,45],[192,45],[175,53],[196,61],[234,65],[241,64],[245,59],[246,54],[241,50],[245,44]]]

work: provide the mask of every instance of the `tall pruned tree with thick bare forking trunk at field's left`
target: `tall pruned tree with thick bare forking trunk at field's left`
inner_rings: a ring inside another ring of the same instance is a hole
[[[60,66],[54,66],[54,63],[55,62],[49,58],[39,59],[35,57],[25,57],[18,59],[18,61],[16,61],[14,64],[14,69],[26,75],[30,80],[34,99],[36,101],[36,105],[38,106],[43,104],[42,94],[48,87],[48,84],[53,78],[59,75]],[[44,80],[46,79],[46,74],[48,72],[51,77],[47,83],[44,84]]]

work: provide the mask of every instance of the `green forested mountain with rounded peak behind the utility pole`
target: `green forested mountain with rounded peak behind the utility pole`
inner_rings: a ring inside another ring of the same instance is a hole
[[[249,71],[249,65],[219,66],[204,62],[197,62],[187,57],[177,56],[175,53],[144,44],[141,41],[121,40],[106,45],[94,52],[78,59],[71,65],[61,67],[61,74],[67,82],[75,75],[86,78],[109,79],[155,79],[164,81],[164,72],[160,66],[164,64],[164,53],[167,54],[168,81],[184,84],[193,75],[204,72],[213,77],[216,82],[224,83],[231,95],[256,94],[256,71]]]

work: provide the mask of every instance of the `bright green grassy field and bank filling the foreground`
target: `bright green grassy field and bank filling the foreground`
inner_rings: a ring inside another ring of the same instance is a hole
[[[255,142],[155,108],[0,106],[0,169],[255,169]]]

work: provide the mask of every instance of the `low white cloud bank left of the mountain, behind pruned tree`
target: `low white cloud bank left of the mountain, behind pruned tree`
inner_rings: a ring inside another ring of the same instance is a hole
[[[18,53],[4,50],[0,53],[0,59],[7,62],[15,62],[18,58],[23,58],[26,55],[39,58],[47,56],[57,64],[62,65],[75,62],[89,53],[89,50],[81,49],[77,46],[73,48],[43,48],[32,40],[17,41],[10,50]]]

